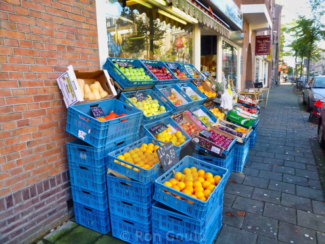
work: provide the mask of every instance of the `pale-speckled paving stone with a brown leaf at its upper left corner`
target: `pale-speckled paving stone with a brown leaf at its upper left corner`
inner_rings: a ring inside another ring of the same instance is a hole
[[[246,213],[241,228],[257,235],[277,239],[278,221],[253,213]]]

